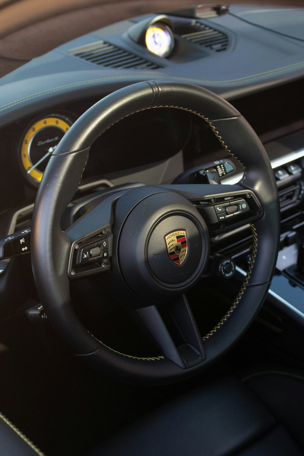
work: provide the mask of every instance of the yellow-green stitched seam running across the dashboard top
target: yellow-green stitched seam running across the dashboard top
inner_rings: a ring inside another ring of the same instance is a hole
[[[238,82],[242,82],[242,81],[250,81],[251,79],[261,78],[262,76],[268,76],[271,74],[280,73],[280,72],[283,72],[283,71],[286,71],[289,69],[302,67],[303,65],[304,65],[304,62],[293,63],[292,65],[287,65],[285,67],[277,68],[276,70],[266,71],[263,73],[257,73],[252,76],[246,76],[244,78],[231,79],[231,80],[227,80],[227,81],[208,81],[208,80],[205,81],[203,79],[178,78],[176,76],[171,76],[170,79],[172,79],[174,81],[183,81],[183,82],[188,81],[188,82],[192,82],[192,83],[201,83],[201,84],[209,84],[209,85],[216,86],[217,84],[225,85],[225,84],[238,83]],[[34,95],[20,98],[19,100],[13,101],[11,103],[4,104],[0,108],[0,111],[10,108],[11,106],[15,106],[16,104],[20,104],[23,101],[31,100],[32,98],[40,97],[41,95],[46,95],[47,93],[57,92],[59,90],[65,89],[65,88],[78,87],[78,86],[85,85],[85,84],[99,83],[99,82],[103,82],[103,81],[121,80],[122,78],[123,79],[140,79],[140,78],[146,79],[147,77],[149,77],[149,75],[142,75],[142,74],[141,75],[137,75],[137,74],[136,75],[127,75],[127,76],[126,75],[125,76],[112,76],[110,78],[96,78],[96,79],[89,79],[87,81],[81,81],[79,83],[66,84],[64,86],[52,88],[49,90],[44,90],[43,92],[38,92],[38,93],[35,93]],[[153,79],[153,78],[155,78],[155,74],[151,76],[151,79]]]

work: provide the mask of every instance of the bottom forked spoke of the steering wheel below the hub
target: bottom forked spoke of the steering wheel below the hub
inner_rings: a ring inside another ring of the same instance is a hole
[[[193,367],[205,359],[204,344],[185,295],[160,311],[148,306],[137,309],[135,314],[146,336],[180,368]]]

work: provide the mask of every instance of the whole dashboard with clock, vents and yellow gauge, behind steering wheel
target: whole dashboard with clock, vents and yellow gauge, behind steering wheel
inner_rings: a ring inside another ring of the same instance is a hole
[[[143,80],[196,83],[235,106],[265,146],[282,212],[278,275],[269,296],[304,324],[304,308],[296,304],[304,285],[289,270],[299,262],[304,229],[304,31],[299,17],[304,10],[241,6],[145,15],[79,37],[1,78],[0,238],[29,229],[48,159],[92,104]],[[75,200],[116,185],[197,179],[204,170],[217,173],[217,183],[237,183],[242,169],[233,161],[226,169],[221,164],[227,159],[203,119],[174,107],[148,109],[122,119],[94,142]],[[211,244],[236,259],[243,274],[248,228],[217,234]],[[26,271],[18,276],[18,283],[26,283],[22,290],[14,290],[18,268]],[[38,301],[29,255],[2,259],[0,284],[0,302],[5,303],[0,316],[16,310],[16,302]]]

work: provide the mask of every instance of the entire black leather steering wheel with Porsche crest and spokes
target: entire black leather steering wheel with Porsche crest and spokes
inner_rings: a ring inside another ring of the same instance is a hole
[[[204,119],[221,145],[242,164],[242,180],[237,185],[113,189],[63,232],[61,217],[76,193],[93,141],[130,114],[160,108],[183,109]],[[247,205],[247,212],[242,212],[242,205],[238,210],[240,202]],[[237,208],[237,212],[225,212],[224,223],[216,214],[220,204],[233,206],[231,211]],[[232,306],[201,337],[185,292],[206,268],[209,231],[219,232],[232,218],[237,226],[250,223],[251,262]],[[207,368],[246,330],[268,292],[278,240],[277,185],[263,145],[247,121],[204,88],[146,81],[94,104],[60,141],[36,197],[31,259],[48,318],[77,357],[130,383],[170,383]],[[118,352],[82,325],[73,310],[70,281],[97,272],[108,275],[108,283],[124,296],[125,306],[159,347],[160,356]],[[161,318],[160,308],[168,311],[178,342]]]

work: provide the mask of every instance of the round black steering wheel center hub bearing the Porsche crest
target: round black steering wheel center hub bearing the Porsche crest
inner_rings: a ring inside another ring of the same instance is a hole
[[[175,192],[142,199],[129,212],[119,237],[121,274],[129,288],[151,302],[176,299],[199,279],[209,255],[207,227],[197,209]]]

